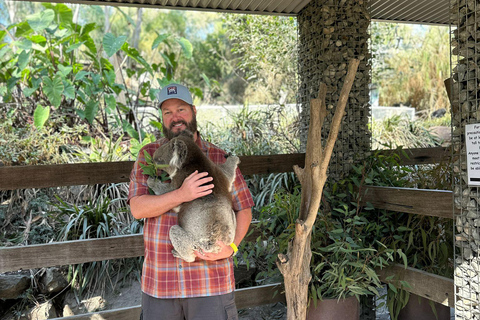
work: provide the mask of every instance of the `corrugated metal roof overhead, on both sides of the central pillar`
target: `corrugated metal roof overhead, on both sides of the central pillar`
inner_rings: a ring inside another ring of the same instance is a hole
[[[23,0],[25,1],[25,0]],[[43,0],[40,0],[43,1]],[[297,15],[311,0],[44,0],[163,9]],[[361,1],[361,0],[358,0]],[[366,0],[374,20],[449,24],[449,0]],[[342,2],[342,1],[340,1]]]

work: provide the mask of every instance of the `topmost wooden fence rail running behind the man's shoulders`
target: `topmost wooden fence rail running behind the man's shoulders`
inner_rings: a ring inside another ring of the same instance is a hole
[[[449,148],[403,151],[400,162],[405,165],[438,163],[451,157]],[[391,152],[394,150],[381,154]],[[294,165],[303,167],[305,154],[241,156],[240,161],[244,175],[290,172]],[[133,161],[0,167],[0,190],[128,182],[132,167]]]

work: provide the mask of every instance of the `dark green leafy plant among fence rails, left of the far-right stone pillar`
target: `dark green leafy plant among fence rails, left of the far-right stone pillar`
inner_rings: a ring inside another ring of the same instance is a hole
[[[404,166],[401,148],[389,155],[378,152],[354,168],[362,188],[368,185],[448,190],[452,185],[451,163],[438,165]],[[358,178],[357,178],[358,179]],[[377,220],[375,237],[388,248],[401,250],[402,259],[395,262],[406,266],[453,278],[453,220],[416,214],[371,210],[368,219]],[[407,288],[408,283],[402,283]],[[404,289],[388,285],[387,307],[393,320],[407,304],[410,294]]]

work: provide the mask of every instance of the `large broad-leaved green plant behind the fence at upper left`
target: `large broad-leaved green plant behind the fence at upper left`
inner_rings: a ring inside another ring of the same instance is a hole
[[[17,102],[14,108],[22,111],[15,125],[30,119],[37,128],[47,121],[69,127],[83,123],[90,134],[124,132],[143,140],[135,113],[155,98],[155,85],[173,81],[179,59],[171,52],[173,44],[191,58],[189,41],[159,35],[152,48],[162,48],[165,65],[150,65],[126,36],[106,33],[95,43],[95,23],[74,23],[64,4],[42,5],[45,10],[0,31],[0,95],[6,103]],[[117,58],[128,60],[129,67],[121,67]],[[127,78],[133,86],[126,85]]]

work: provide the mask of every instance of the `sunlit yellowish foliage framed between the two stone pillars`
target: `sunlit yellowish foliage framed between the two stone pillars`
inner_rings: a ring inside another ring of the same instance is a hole
[[[450,110],[444,85],[450,77],[448,27],[372,22],[371,34],[379,105]]]

